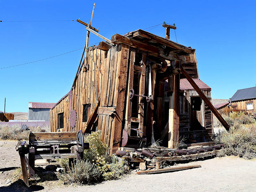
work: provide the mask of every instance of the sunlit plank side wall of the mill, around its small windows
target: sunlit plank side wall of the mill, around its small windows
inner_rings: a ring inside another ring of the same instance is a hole
[[[78,132],[86,126],[86,122],[82,122],[83,104],[90,104],[90,108],[93,108],[100,96],[104,63],[107,58],[105,53],[97,46],[86,51],[85,62],[79,70],[72,89],[71,106],[69,106],[69,96],[67,95],[51,110],[51,130],[53,132],[57,131],[57,118],[60,112],[64,112],[63,131]],[[72,110],[76,110],[76,126],[74,128],[70,127],[69,123],[69,115]],[[88,116],[90,116],[90,112],[88,110]]]

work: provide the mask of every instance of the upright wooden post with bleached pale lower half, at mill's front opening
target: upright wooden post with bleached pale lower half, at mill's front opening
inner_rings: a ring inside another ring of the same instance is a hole
[[[175,61],[174,68],[180,68],[180,66],[181,62]],[[168,148],[175,148],[179,143],[180,74],[174,75],[171,80],[173,82],[173,92],[170,97]]]

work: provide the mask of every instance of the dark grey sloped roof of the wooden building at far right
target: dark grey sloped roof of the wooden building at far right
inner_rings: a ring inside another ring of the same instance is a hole
[[[256,98],[256,87],[250,87],[246,89],[239,89],[231,97],[231,101],[244,100]]]

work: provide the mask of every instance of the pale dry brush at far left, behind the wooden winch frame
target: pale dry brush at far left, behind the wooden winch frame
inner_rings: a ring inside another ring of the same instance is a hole
[[[0,126],[0,138],[2,140],[28,140],[30,132],[49,132],[50,127],[29,127],[29,130],[23,131],[19,125]]]

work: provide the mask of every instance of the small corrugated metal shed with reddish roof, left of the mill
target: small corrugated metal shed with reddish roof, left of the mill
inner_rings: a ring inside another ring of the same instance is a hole
[[[55,103],[28,102],[28,121],[50,121],[50,109]]]

